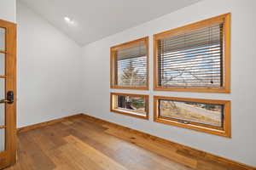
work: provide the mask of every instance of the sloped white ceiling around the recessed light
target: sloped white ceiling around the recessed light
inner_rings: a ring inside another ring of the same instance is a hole
[[[200,0],[20,0],[84,45]],[[75,25],[63,19],[71,17]]]

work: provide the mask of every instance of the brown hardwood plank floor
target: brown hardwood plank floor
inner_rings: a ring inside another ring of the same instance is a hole
[[[18,161],[6,170],[235,169],[82,116],[18,133],[18,140]]]

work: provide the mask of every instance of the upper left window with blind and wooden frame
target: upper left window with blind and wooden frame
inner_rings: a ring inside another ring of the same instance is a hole
[[[110,49],[111,88],[148,90],[148,37]]]

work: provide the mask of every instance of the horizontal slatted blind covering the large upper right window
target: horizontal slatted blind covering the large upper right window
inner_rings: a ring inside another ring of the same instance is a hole
[[[158,43],[160,87],[220,88],[224,24],[164,37]]]

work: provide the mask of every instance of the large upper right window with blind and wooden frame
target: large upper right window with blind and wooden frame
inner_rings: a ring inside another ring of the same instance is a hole
[[[154,35],[154,89],[230,93],[230,14]]]

